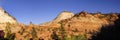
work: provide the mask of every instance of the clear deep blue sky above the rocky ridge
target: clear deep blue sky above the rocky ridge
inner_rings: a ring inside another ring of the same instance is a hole
[[[64,10],[120,13],[120,0],[0,0],[0,6],[24,24],[48,22]]]

